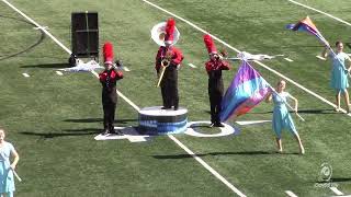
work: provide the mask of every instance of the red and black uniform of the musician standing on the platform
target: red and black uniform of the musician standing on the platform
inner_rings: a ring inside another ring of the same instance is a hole
[[[179,96],[178,96],[178,67],[183,60],[183,55],[180,49],[169,46],[161,46],[158,49],[156,56],[156,66],[155,69],[158,76],[161,72],[161,61],[166,56],[166,53],[171,53],[171,61],[170,65],[166,68],[162,81],[160,83],[163,108],[171,108],[174,106],[174,109],[179,107]]]

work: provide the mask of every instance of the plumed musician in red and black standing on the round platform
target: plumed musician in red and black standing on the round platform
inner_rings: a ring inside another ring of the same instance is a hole
[[[176,21],[169,19],[166,24],[165,46],[160,46],[157,51],[155,69],[159,78],[161,69],[166,69],[160,82],[162,109],[174,106],[173,109],[177,111],[179,107],[178,69],[184,57],[182,51],[173,46],[174,27]]]

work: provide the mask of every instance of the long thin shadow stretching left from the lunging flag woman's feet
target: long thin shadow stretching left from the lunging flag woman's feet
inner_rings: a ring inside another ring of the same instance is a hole
[[[171,154],[171,155],[152,155],[155,159],[168,160],[168,159],[186,159],[196,157],[207,157],[207,155],[265,155],[265,154],[298,154],[298,153],[276,153],[274,151],[246,151],[246,152],[211,152],[203,154]]]

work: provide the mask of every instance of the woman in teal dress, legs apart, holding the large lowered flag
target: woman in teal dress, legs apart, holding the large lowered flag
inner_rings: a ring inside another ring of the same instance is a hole
[[[276,139],[278,151],[280,153],[283,152],[282,130],[287,129],[295,137],[299,147],[301,154],[305,154],[304,146],[301,141],[301,138],[295,128],[293,118],[288,114],[288,111],[285,104],[287,99],[292,99],[295,102],[295,113],[297,113],[298,101],[295,97],[293,97],[288,92],[284,92],[284,90],[285,90],[285,81],[281,80],[276,84],[276,92],[272,91],[265,97],[267,103],[271,102],[272,100],[274,103],[272,126],[276,136],[275,139]]]

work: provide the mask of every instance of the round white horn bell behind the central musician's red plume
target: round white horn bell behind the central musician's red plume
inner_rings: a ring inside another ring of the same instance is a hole
[[[166,22],[158,23],[151,30],[151,38],[159,46],[166,46],[165,45],[166,24],[167,24]],[[172,45],[174,45],[180,37],[180,33],[176,26],[174,26],[173,37],[174,38],[173,38]]]

